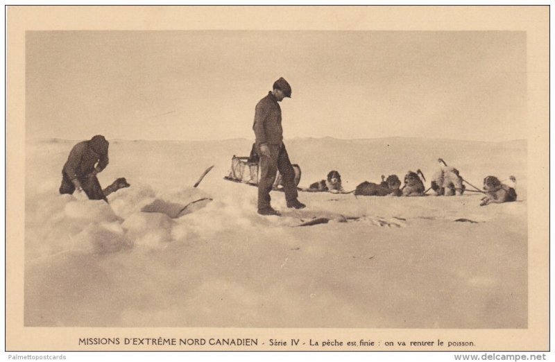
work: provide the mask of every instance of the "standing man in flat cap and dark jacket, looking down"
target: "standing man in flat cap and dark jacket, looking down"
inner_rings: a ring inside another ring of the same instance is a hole
[[[270,191],[278,170],[282,175],[287,207],[306,207],[297,200],[295,171],[283,144],[282,110],[278,102],[285,97],[291,98],[291,86],[287,80],[280,78],[273,83],[273,90],[256,105],[253,130],[256,137],[255,147],[260,156],[258,214],[261,215],[280,215],[270,205]]]

